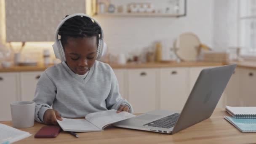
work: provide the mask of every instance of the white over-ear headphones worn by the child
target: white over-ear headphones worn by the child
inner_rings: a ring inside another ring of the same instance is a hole
[[[92,19],[94,22],[96,22],[96,24],[99,25],[99,23],[96,20],[94,20],[91,16],[88,16],[84,13],[74,13],[74,14],[67,16],[65,19],[63,19],[59,23],[58,27],[56,28],[55,43],[53,44],[53,51],[54,51],[55,57],[56,57],[56,59],[60,59],[61,61],[66,61],[66,57],[65,57],[65,52],[64,52],[63,46],[61,44],[61,40],[59,40],[59,37],[58,37],[59,28],[62,26],[62,24],[64,24],[65,21],[67,21],[67,19],[70,19],[74,16],[81,16],[81,17],[86,16],[86,17]],[[99,27],[101,28],[100,25],[99,25]],[[100,60],[101,57],[106,53],[106,51],[107,51],[107,44],[104,43],[104,34],[103,34],[103,29],[101,28],[101,35],[99,37],[99,45],[97,47],[96,60]]]

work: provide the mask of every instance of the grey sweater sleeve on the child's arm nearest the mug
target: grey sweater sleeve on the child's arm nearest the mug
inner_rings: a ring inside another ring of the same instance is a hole
[[[46,71],[40,76],[35,91],[35,120],[43,123],[43,115],[47,109],[51,109],[51,105],[56,97],[56,86],[48,77]]]

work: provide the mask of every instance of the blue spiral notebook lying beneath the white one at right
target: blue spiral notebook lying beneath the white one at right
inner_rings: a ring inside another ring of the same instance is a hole
[[[255,118],[234,118],[228,116],[225,116],[224,118],[243,133],[256,132]]]

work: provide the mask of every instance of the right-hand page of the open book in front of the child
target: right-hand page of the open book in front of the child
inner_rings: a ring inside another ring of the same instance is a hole
[[[117,110],[111,109],[103,112],[94,112],[85,116],[85,119],[103,129],[106,125],[126,120],[131,117],[135,117],[129,112],[117,113]]]

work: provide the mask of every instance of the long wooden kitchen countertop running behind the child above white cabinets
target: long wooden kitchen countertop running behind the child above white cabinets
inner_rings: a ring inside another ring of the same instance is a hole
[[[184,62],[162,62],[162,63],[128,63],[128,64],[109,64],[113,69],[122,68],[160,68],[160,67],[205,67],[205,66],[220,66],[225,64],[237,64],[237,67],[248,69],[256,69],[256,61],[232,61],[229,63],[221,62],[205,62],[205,61],[184,61]],[[28,72],[28,71],[44,71],[53,65],[44,66],[39,64],[37,66],[11,66],[3,68],[0,66],[0,72]]]

